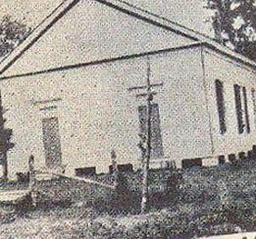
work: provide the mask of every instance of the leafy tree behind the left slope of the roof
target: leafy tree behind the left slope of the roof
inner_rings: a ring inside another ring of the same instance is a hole
[[[10,16],[5,16],[0,21],[0,58],[13,51],[30,32],[26,24],[13,21]]]

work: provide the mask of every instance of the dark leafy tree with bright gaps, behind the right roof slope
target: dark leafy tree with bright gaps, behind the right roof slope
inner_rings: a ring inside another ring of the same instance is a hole
[[[256,61],[256,1],[204,1],[214,12],[211,22],[216,40]]]

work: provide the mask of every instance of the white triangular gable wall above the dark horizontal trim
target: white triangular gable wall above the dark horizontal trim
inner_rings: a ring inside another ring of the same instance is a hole
[[[104,4],[81,0],[4,75],[37,72],[192,42]]]

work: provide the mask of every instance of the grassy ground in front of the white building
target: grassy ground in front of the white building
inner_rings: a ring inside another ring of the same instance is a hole
[[[151,183],[163,185],[151,185],[148,215],[136,215],[138,197],[126,210],[119,211],[117,208],[124,209],[124,205],[109,197],[104,202],[106,192],[99,189],[90,189],[85,197],[86,187],[76,182],[51,182],[42,185],[43,198],[47,196],[51,201],[51,197],[59,196],[71,204],[63,208],[52,203],[19,214],[9,209],[10,218],[0,222],[0,238],[190,238],[252,231],[256,228],[255,172],[252,161],[239,167],[186,170],[177,194],[170,195],[163,192],[169,172],[151,171]],[[126,176],[130,191],[126,197],[137,195],[139,173]],[[102,175],[101,179],[106,177]]]

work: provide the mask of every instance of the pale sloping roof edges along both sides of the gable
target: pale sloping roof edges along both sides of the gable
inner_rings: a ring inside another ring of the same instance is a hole
[[[185,37],[193,39],[195,41],[201,42],[209,48],[218,51],[235,61],[243,63],[247,66],[256,69],[256,63],[249,60],[242,55],[235,53],[230,50],[230,48],[225,47],[218,42],[212,40],[211,38],[191,30],[181,24],[174,23],[169,19],[163,18],[161,16],[150,13],[146,10],[140,9],[134,5],[129,4],[123,0],[93,0],[102,4],[105,4],[109,7],[112,7],[116,10],[124,12],[133,18],[139,19],[141,21],[147,22],[149,24],[154,24],[159,27],[165,28],[167,30],[179,33]],[[65,0],[59,7],[57,7],[45,20],[38,24],[26,40],[17,47],[11,54],[4,58],[0,62],[0,74],[7,71],[25,52],[29,49],[53,24],[58,22],[70,9],[72,9],[79,0]]]

